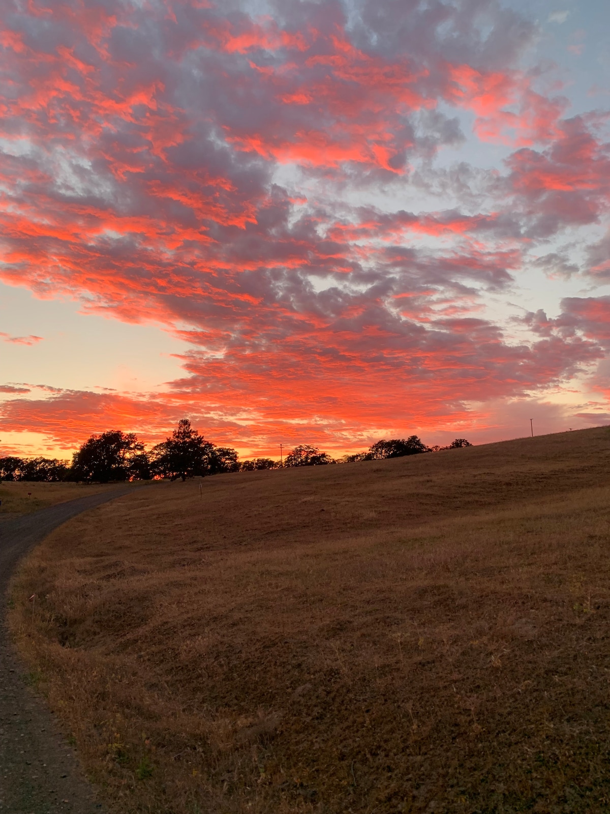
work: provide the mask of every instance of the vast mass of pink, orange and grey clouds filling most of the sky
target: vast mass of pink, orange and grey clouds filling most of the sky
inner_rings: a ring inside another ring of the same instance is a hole
[[[520,67],[533,26],[491,0],[363,0],[349,24],[331,0],[245,8],[2,12],[0,276],[192,345],[161,395],[50,390],[7,401],[3,426],[72,444],[108,422],[156,437],[188,413],[261,452],[302,427],[346,444],[460,421],[601,357],[593,306],[528,317],[519,343],[481,318],[525,252],[608,208],[600,119],[562,119]],[[484,195],[460,168],[429,211],[370,204],[376,185],[443,182],[430,162],[464,138],[461,109],[478,139],[518,148],[480,173]],[[280,186],[286,168],[304,182]]]

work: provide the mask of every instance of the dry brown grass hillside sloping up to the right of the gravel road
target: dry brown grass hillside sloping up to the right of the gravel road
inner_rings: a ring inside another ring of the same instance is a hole
[[[610,810],[607,428],[199,483],[12,584],[114,812]]]

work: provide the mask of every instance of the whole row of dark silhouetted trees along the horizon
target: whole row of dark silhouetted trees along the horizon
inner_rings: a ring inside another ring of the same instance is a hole
[[[133,432],[110,430],[91,435],[72,456],[72,463],[56,458],[15,456],[0,457],[0,480],[74,481],[102,483],[125,480],[171,480],[195,476],[218,475],[222,472],[246,472],[277,469],[281,466],[325,466],[354,461],[376,461],[472,446],[465,438],[456,438],[447,447],[427,447],[416,436],[381,440],[364,453],[346,455],[335,460],[317,447],[299,444],[282,462],[272,458],[239,461],[231,447],[212,444],[194,430],[188,418],[182,418],[161,444],[146,450]]]

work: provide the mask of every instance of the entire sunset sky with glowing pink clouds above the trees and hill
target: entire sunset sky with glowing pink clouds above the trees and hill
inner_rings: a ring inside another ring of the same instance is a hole
[[[0,454],[610,423],[610,5],[7,0]]]

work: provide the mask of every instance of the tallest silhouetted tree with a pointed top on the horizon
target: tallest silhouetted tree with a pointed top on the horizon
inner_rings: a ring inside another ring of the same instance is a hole
[[[235,460],[237,461],[237,453]],[[199,435],[190,426],[188,418],[181,418],[172,437],[166,438],[152,449],[150,470],[164,478],[186,480],[195,475],[214,475],[216,472],[227,471],[223,468],[227,462],[227,455],[217,455],[214,444]]]

